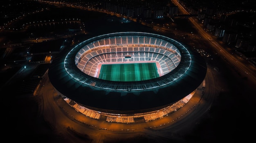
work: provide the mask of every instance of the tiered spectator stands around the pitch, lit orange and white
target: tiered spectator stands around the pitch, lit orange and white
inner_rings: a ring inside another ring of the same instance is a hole
[[[165,75],[180,62],[176,49],[173,44],[155,37],[116,36],[83,46],[76,55],[76,65],[84,73],[95,75],[95,70],[90,68],[105,62],[155,61]],[[125,59],[124,55],[132,55],[132,59]]]

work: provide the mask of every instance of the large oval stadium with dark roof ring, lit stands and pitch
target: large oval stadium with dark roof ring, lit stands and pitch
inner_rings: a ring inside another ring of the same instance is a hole
[[[203,57],[176,40],[121,32],[92,37],[62,51],[48,75],[58,94],[85,116],[136,123],[180,109],[206,71]]]

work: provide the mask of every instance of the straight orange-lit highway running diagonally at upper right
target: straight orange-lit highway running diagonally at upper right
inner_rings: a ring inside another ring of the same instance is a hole
[[[175,5],[177,5],[177,7],[179,8],[182,14],[190,14],[184,9],[184,7],[182,7],[180,3],[177,2],[177,0],[171,0],[171,1]],[[202,28],[202,26],[197,22],[195,18],[191,17],[189,18],[189,20],[195,26],[195,28],[198,29],[198,32],[202,35],[202,37],[206,39],[212,45],[212,47],[216,49],[216,53],[218,55],[221,55],[221,57],[225,58],[227,62],[231,64],[231,66],[234,66],[236,70],[239,70],[240,71],[239,73],[241,75],[248,77],[248,80],[251,80],[254,84],[256,84],[256,74],[254,74],[256,73],[256,70],[253,66],[251,66],[250,64],[245,64],[245,63],[248,63],[246,60],[239,59],[234,55],[232,55],[231,53],[229,53],[229,51],[223,48],[216,40],[214,40],[211,37],[209,33],[207,33],[207,31],[205,31]]]

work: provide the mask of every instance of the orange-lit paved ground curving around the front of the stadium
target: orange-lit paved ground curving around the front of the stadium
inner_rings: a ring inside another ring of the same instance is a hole
[[[203,98],[201,98],[202,90],[198,89],[194,97],[185,106],[166,117],[150,122],[135,124],[109,123],[106,121],[106,117],[101,117],[99,120],[86,117],[74,110],[59,96],[47,75],[43,78],[36,96],[41,99],[40,114],[45,121],[70,143],[84,143],[87,140],[86,136],[88,136],[88,142],[90,143],[103,143],[106,140],[116,139],[123,140],[136,136],[144,136],[150,139],[183,140],[182,135],[193,130],[195,123],[200,121],[200,117],[209,110],[213,100],[221,90],[220,84],[213,81],[218,80],[217,72],[211,69],[207,68],[205,78],[207,90],[204,90]],[[69,128],[71,130],[68,130]],[[100,128],[107,128],[107,130],[99,130]],[[78,134],[84,137],[79,139]]]

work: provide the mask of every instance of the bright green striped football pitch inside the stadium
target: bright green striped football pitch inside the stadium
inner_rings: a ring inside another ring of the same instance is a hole
[[[142,81],[159,77],[155,63],[102,64],[99,79]]]

